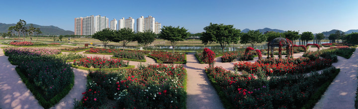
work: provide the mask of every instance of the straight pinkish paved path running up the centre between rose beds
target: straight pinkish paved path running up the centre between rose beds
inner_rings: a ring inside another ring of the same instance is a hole
[[[186,108],[224,109],[219,96],[204,72],[204,68],[208,64],[200,64],[194,54],[186,54],[186,64],[184,64],[187,71]]]

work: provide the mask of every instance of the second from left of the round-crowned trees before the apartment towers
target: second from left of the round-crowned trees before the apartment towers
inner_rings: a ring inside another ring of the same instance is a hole
[[[135,41],[135,34],[130,28],[122,28],[115,32],[114,38],[111,41],[122,44],[124,51],[124,47],[128,43]]]

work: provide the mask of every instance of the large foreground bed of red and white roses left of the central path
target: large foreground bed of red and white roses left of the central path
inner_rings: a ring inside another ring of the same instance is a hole
[[[87,90],[75,108],[103,107],[107,99],[116,101],[119,109],[186,108],[186,70],[182,65],[140,65],[119,71],[90,71],[88,76]]]

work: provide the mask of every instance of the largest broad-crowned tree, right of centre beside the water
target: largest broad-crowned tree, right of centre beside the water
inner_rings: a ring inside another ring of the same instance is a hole
[[[213,24],[210,23],[209,26],[204,27],[205,32],[200,37],[201,42],[206,45],[208,43],[219,43],[222,51],[227,45],[237,42],[240,40],[240,29],[234,28],[234,25],[224,25],[224,24]]]

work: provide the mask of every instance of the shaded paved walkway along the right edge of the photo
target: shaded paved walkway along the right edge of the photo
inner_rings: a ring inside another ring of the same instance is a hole
[[[357,74],[358,74],[358,50],[346,59],[338,56],[338,62],[333,66],[340,68],[341,72],[333,80],[314,109],[355,109]]]

